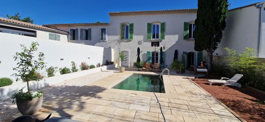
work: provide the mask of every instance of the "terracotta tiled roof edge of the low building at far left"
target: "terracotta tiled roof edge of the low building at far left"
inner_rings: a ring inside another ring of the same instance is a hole
[[[68,34],[68,32],[60,31],[58,29],[52,29],[52,28],[41,26],[41,25],[37,25],[37,24],[32,24],[32,23],[28,23],[28,22],[22,22],[22,21],[13,20],[13,19],[7,19],[7,18],[3,18],[3,17],[0,17],[0,23],[1,22],[10,23],[10,24],[17,24],[17,25],[22,25],[22,26],[31,27],[31,28],[37,28],[37,29],[43,29],[45,31],[57,32],[57,33],[61,33],[61,34]]]

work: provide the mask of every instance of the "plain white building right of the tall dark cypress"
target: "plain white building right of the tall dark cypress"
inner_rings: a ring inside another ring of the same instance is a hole
[[[243,52],[246,47],[257,50],[257,57],[265,58],[264,3],[255,3],[229,10],[226,28],[215,55],[225,55],[229,47]]]

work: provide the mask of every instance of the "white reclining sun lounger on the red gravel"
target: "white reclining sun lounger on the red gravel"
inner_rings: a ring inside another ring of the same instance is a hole
[[[237,81],[239,81],[242,77],[243,77],[242,74],[235,74],[231,79],[226,77],[221,77],[220,80],[209,79],[207,83],[209,83],[210,85],[214,83],[221,83],[223,84],[223,86],[231,85],[231,86],[241,87],[241,84],[237,83]]]

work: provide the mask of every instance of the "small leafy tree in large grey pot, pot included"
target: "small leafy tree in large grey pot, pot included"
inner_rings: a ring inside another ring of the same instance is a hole
[[[30,48],[27,48],[25,45],[21,45],[22,52],[16,52],[13,57],[17,61],[17,67],[13,70],[17,73],[13,74],[16,81],[22,80],[26,82],[28,91],[23,92],[23,88],[19,90],[18,93],[13,95],[13,103],[17,104],[19,112],[23,115],[32,115],[39,111],[42,106],[43,93],[41,91],[34,92],[30,89],[29,81],[35,77],[35,74],[38,70],[45,68],[44,54],[39,52],[38,58],[34,59],[34,52],[38,50],[39,43],[32,42]],[[40,80],[40,79],[36,79]]]

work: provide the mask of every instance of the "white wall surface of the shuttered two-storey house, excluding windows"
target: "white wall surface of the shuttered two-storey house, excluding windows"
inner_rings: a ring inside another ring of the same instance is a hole
[[[151,47],[151,42],[160,42],[160,47],[156,47],[158,52],[158,63],[160,62],[160,48],[165,47],[165,66],[170,68],[173,61],[174,52],[178,50],[178,59],[181,60],[181,54],[185,52],[194,52],[193,64],[197,65],[197,52],[194,50],[194,40],[183,39],[184,22],[193,23],[196,19],[196,13],[185,14],[160,14],[160,15],[138,15],[138,16],[111,16],[110,24],[108,26],[72,26],[72,25],[53,25],[56,28],[69,32],[70,28],[92,29],[92,40],[68,40],[68,42],[81,43],[93,46],[100,46],[105,48],[117,49],[125,53],[127,56],[127,64],[125,66],[131,67],[137,60],[137,48],[141,50],[140,58],[146,61],[147,51],[153,52],[155,49]],[[165,39],[164,40],[148,40],[147,39],[147,23],[165,22]],[[133,40],[120,40],[120,24],[134,23]],[[101,27],[107,28],[107,40],[99,40],[99,29]],[[80,34],[80,33],[79,33]],[[69,39],[69,35],[68,35]]]

